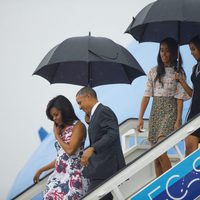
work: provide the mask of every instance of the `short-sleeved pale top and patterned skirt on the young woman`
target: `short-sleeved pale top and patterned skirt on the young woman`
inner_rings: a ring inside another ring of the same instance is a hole
[[[158,80],[154,81],[156,75],[157,67],[154,67],[148,73],[144,92],[144,96],[153,97],[148,136],[148,140],[152,144],[174,131],[177,118],[177,99],[184,101],[190,98],[181,84],[175,80],[174,67],[165,67],[165,75],[162,77],[163,84]]]

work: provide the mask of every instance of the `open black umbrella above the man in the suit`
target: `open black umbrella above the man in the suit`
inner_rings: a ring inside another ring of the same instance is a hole
[[[127,83],[142,75],[143,69],[124,47],[104,37],[72,37],[55,46],[33,74],[50,83],[95,87]]]

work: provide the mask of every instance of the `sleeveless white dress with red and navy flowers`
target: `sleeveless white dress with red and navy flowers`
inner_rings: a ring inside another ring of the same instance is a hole
[[[68,126],[61,138],[65,143],[70,142],[72,126]],[[44,191],[45,200],[78,200],[87,191],[89,181],[83,177],[80,158],[84,150],[84,141],[77,152],[69,156],[58,143],[55,142],[57,159],[54,172],[49,176]]]

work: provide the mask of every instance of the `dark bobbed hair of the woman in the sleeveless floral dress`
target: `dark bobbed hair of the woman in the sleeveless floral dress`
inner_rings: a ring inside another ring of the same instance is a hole
[[[63,124],[72,125],[75,120],[78,120],[71,102],[65,96],[58,95],[47,104],[46,115],[51,121],[53,121],[53,117],[50,111],[53,107],[61,111]]]

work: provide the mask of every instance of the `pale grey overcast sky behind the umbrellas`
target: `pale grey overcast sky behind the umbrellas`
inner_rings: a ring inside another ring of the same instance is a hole
[[[38,129],[52,130],[46,104],[58,94],[75,104],[80,89],[50,85],[32,73],[46,53],[69,37],[108,37],[127,47],[132,17],[152,0],[0,0],[0,199],[38,147]],[[3,180],[3,181],[2,181]]]

